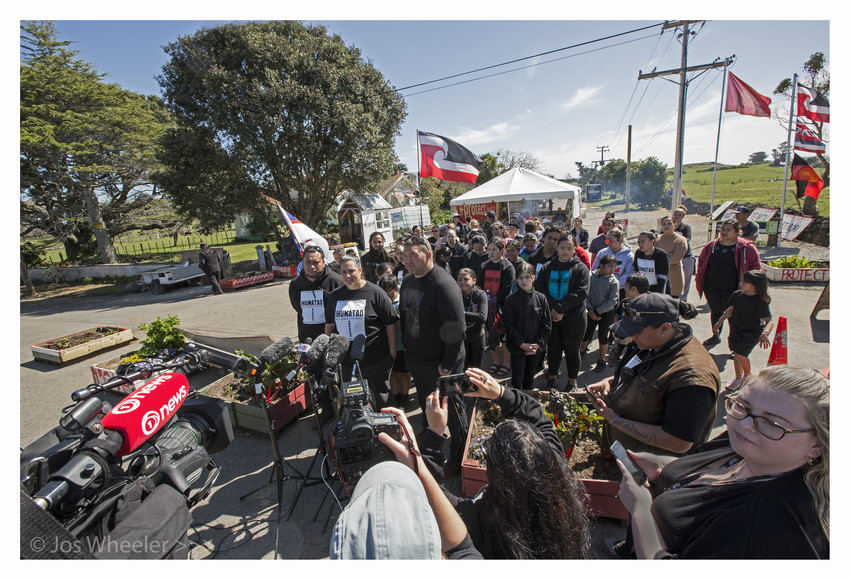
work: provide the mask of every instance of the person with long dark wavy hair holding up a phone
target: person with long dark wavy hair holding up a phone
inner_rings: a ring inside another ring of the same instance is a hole
[[[543,407],[480,369],[468,369],[466,374],[478,390],[465,396],[495,401],[505,418],[486,443],[487,486],[472,499],[443,490],[473,544],[486,559],[587,558],[590,523],[585,492],[573,477]],[[439,391],[428,396],[425,414],[428,429],[420,439],[422,454],[439,473],[448,419],[447,399],[441,402]]]

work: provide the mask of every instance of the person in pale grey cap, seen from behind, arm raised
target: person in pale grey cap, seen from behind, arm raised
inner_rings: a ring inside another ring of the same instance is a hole
[[[331,559],[481,559],[463,520],[425,467],[404,412],[401,442],[378,439],[398,462],[384,461],[360,479],[331,535]]]

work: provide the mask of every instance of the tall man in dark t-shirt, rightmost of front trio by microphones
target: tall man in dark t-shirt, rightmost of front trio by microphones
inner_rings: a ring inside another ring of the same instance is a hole
[[[402,243],[402,259],[410,272],[400,290],[402,339],[407,367],[424,412],[425,400],[437,387],[437,379],[463,370],[466,318],[460,288],[448,272],[434,267],[431,245],[417,236],[407,236]],[[455,410],[449,417],[452,445],[447,477],[460,472],[466,440],[463,399],[459,395],[452,399]]]

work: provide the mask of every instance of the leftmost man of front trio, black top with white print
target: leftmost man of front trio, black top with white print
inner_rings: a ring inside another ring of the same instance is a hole
[[[298,314],[298,342],[315,339],[325,331],[325,303],[330,293],[343,285],[340,275],[325,264],[319,246],[304,248],[302,263],[301,273],[289,283],[289,302]]]

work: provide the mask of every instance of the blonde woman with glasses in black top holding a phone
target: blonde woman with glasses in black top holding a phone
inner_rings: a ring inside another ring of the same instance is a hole
[[[829,558],[829,381],[768,367],[724,401],[727,433],[676,459],[630,453],[652,497],[623,473],[638,558]],[[622,465],[620,469],[623,469]]]

